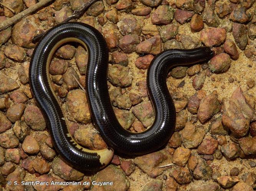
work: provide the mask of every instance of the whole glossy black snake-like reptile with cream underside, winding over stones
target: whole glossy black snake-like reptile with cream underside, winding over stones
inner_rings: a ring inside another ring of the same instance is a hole
[[[68,131],[61,106],[51,87],[49,65],[56,49],[66,42],[79,42],[88,51],[86,94],[95,127],[115,151],[124,154],[147,154],[162,147],[175,128],[175,107],[166,85],[171,67],[191,65],[213,57],[208,47],[192,50],[166,50],[157,55],[147,73],[147,85],[155,121],[142,133],[125,130],[117,121],[107,88],[108,49],[104,37],[87,24],[69,22],[50,29],[36,46],[30,62],[30,85],[48,124],[56,150],[64,159],[82,170],[97,170],[109,163],[111,148],[85,149]]]

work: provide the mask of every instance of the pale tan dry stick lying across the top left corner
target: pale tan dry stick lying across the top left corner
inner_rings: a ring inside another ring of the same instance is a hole
[[[41,0],[40,2],[31,6],[30,8],[27,8],[26,10],[22,11],[21,13],[18,13],[17,15],[13,16],[12,18],[1,22],[0,23],[0,31],[8,28],[9,26],[16,23],[21,18],[28,16],[30,13],[33,13],[34,11],[38,10],[39,8],[41,8],[42,6],[46,5],[47,3],[51,2],[51,1],[53,1],[53,0]]]

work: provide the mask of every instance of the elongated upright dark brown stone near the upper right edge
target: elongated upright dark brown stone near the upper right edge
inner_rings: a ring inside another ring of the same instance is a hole
[[[240,23],[233,23],[233,37],[239,49],[244,50],[248,44],[246,26]]]

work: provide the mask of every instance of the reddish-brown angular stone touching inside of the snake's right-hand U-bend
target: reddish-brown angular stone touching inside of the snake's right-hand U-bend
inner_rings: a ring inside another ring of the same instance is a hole
[[[149,127],[154,122],[154,110],[150,101],[144,101],[132,108],[132,113],[145,127]]]

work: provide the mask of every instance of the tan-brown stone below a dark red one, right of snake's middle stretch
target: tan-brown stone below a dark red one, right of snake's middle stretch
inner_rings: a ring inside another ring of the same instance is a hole
[[[108,78],[115,86],[127,87],[132,84],[130,68],[126,66],[117,64],[109,66]]]

